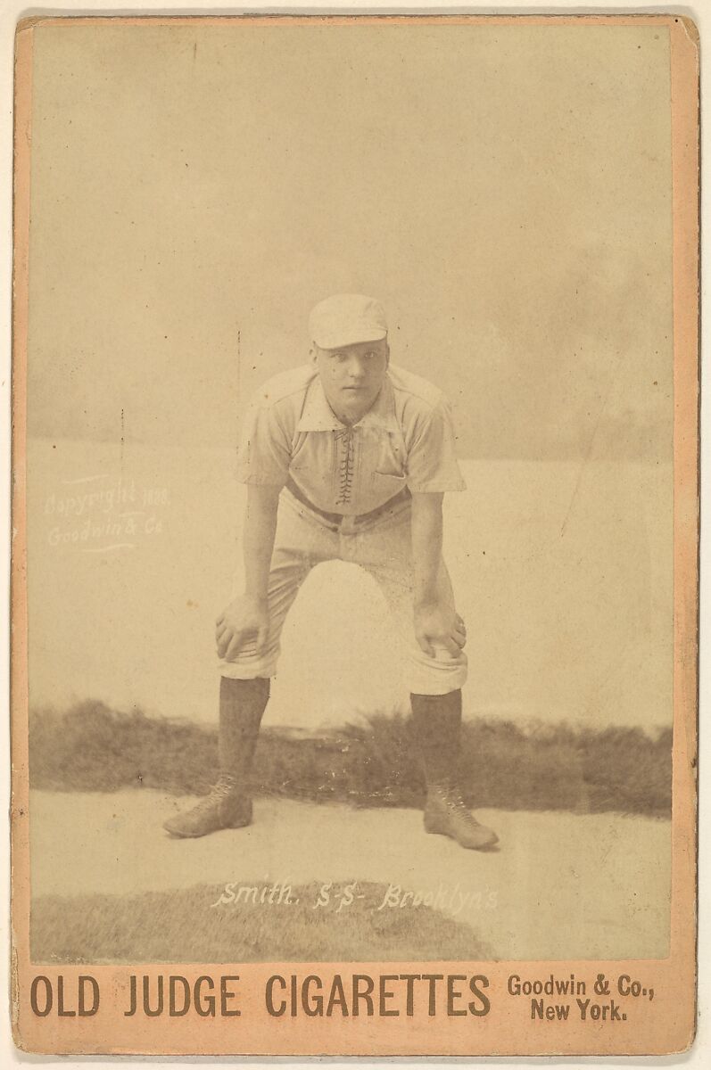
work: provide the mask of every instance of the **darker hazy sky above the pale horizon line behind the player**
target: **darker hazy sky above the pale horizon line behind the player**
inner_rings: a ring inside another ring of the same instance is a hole
[[[668,66],[649,26],[39,27],[30,433],[235,443],[358,291],[463,456],[669,459]]]

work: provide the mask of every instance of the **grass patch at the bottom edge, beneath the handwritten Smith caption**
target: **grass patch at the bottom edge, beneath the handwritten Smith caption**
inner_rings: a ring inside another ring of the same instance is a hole
[[[347,883],[347,882],[346,882]],[[378,911],[387,885],[359,882],[364,899],[314,910],[319,882],[287,904],[212,906],[221,887],[136,896],[47,896],[32,903],[35,963],[489,961],[464,922],[430,906]]]

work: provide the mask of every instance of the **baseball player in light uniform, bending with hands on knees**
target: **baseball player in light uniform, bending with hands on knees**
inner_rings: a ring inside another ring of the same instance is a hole
[[[164,827],[196,837],[251,823],[249,775],[286,615],[311,569],[339,560],[373,576],[407,645],[425,829],[489,847],[497,836],[466,808],[456,779],[466,628],[442,560],[442,498],[465,485],[447,400],[390,364],[374,299],[328,297],[309,332],[311,363],[269,380],[244,422],[246,579],[216,622],[220,777]]]

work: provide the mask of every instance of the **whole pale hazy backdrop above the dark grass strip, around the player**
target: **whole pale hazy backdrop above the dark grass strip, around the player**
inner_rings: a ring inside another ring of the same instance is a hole
[[[214,716],[242,407],[306,357],[309,307],[359,290],[388,307],[393,360],[455,402],[468,713],[669,723],[665,30],[35,40],[31,700]],[[378,599],[346,566],[313,578],[272,718],[397,701]]]

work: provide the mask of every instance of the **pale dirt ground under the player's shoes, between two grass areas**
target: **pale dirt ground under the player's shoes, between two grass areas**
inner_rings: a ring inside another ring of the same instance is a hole
[[[216,899],[228,883],[237,889],[311,881],[332,882],[337,896],[348,882],[377,882],[390,896],[374,911],[414,914],[415,897],[428,896],[499,959],[668,953],[666,821],[482,810],[478,816],[497,829],[500,845],[480,853],[426,836],[415,810],[263,798],[249,828],[175,840],[162,822],[190,801],[148,790],[33,792],[33,897],[214,884]],[[347,911],[343,917],[347,923]]]

